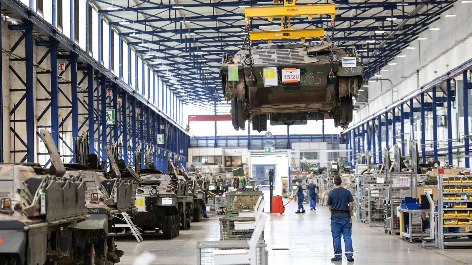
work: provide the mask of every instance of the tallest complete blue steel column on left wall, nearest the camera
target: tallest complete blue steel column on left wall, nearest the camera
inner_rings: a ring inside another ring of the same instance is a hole
[[[34,126],[33,25],[26,24],[25,26],[26,162],[34,163],[36,132]]]

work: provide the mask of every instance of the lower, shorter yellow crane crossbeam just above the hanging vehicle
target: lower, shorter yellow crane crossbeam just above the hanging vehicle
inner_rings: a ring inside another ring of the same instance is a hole
[[[305,41],[305,38],[320,37],[324,38],[323,28],[313,29],[286,29],[286,30],[274,30],[274,31],[251,31],[249,32],[249,40],[268,40],[272,43],[273,39],[291,39],[301,38]]]

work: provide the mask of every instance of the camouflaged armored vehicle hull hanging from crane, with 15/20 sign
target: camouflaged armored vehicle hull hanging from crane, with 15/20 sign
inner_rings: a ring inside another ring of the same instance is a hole
[[[335,126],[352,121],[353,99],[362,84],[362,62],[355,50],[331,44],[289,44],[239,50],[223,58],[220,76],[223,93],[231,101],[233,127],[266,131],[271,125],[307,124],[334,119]],[[353,58],[342,67],[342,58]],[[237,70],[236,70],[237,69]]]

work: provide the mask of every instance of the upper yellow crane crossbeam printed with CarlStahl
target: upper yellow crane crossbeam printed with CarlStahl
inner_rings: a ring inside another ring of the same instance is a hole
[[[316,5],[284,5],[284,6],[268,6],[268,7],[247,7],[244,8],[244,18],[250,17],[291,17],[308,15],[308,19],[312,19],[314,15],[336,15],[335,4],[316,4]]]

